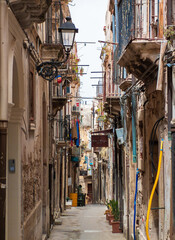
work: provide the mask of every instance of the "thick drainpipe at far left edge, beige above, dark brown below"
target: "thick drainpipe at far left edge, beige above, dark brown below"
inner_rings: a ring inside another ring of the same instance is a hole
[[[8,7],[0,0],[0,233],[6,228],[6,152],[8,120]]]

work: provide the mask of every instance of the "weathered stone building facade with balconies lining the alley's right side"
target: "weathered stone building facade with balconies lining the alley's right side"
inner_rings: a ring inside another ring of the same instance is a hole
[[[115,0],[107,9],[105,36],[111,49],[107,65],[104,58],[103,87],[106,94],[114,84],[116,96],[104,107],[115,128],[123,131],[121,139],[116,135],[115,181],[127,239],[147,239],[148,234],[174,239],[174,11],[173,1]],[[159,181],[148,217],[162,139]]]

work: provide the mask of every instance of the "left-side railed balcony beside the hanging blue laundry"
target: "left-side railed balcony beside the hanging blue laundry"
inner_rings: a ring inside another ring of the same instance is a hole
[[[70,116],[55,120],[54,140],[57,146],[66,146],[70,140]]]

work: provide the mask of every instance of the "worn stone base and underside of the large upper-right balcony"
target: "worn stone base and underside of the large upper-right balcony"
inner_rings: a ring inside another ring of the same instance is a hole
[[[118,64],[142,81],[155,79],[162,40],[134,39],[125,48]]]

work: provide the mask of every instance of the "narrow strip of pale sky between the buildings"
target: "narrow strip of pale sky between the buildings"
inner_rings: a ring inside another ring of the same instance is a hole
[[[101,71],[100,52],[102,44],[98,40],[104,40],[103,28],[105,26],[105,15],[107,10],[108,0],[73,0],[70,5],[70,12],[72,21],[79,29],[76,35],[76,42],[96,42],[96,44],[78,44],[78,56],[80,64],[88,64],[88,73],[80,80],[82,82],[80,88],[81,96],[95,97],[96,87],[92,84],[98,83],[97,79],[90,79],[90,77],[101,77],[101,73],[92,74],[92,71]],[[101,78],[100,78],[101,79]],[[100,80],[99,79],[99,80]]]

